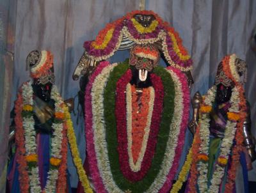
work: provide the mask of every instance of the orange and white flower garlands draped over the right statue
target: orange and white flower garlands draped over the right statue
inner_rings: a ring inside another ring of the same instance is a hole
[[[234,189],[234,180],[236,178],[236,168],[239,163],[239,152],[243,145],[243,121],[245,118],[246,102],[244,99],[243,86],[239,82],[239,75],[236,72],[236,55],[226,56],[223,63],[223,72],[231,79],[235,86],[232,89],[230,98],[230,108],[227,112],[227,124],[224,138],[220,144],[220,153],[216,159],[216,165],[212,173],[211,183],[208,187],[207,165],[209,149],[209,113],[212,111],[211,104],[214,102],[216,95],[216,86],[213,86],[204,97],[204,103],[200,107],[200,122],[198,132],[195,134],[195,143],[193,143],[193,164],[191,166],[191,177],[189,178],[189,191],[196,192],[196,180],[200,192],[216,192],[219,189],[221,180],[225,173],[225,167],[228,164],[228,157],[232,151],[231,165],[228,169],[227,183],[225,192],[232,192]],[[208,137],[207,137],[208,136]],[[236,146],[232,147],[233,141]],[[198,147],[198,144],[200,146]],[[199,148],[199,150],[197,150]],[[197,168],[196,168],[197,165]],[[197,176],[197,173],[199,175]]]

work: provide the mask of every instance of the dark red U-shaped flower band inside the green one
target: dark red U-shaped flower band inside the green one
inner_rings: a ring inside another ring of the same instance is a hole
[[[150,74],[150,79],[155,89],[155,100],[154,109],[152,112],[152,121],[150,125],[150,139],[148,139],[147,148],[145,151],[145,156],[141,162],[141,170],[134,172],[129,166],[129,155],[128,155],[128,142],[127,142],[127,123],[126,123],[126,104],[125,104],[125,89],[128,82],[131,80],[131,70],[127,72],[118,80],[116,84],[116,130],[118,137],[118,154],[120,162],[120,170],[124,174],[125,178],[129,181],[140,181],[145,174],[147,174],[148,169],[151,166],[152,158],[154,156],[154,150],[157,143],[157,134],[159,132],[160,121],[161,121],[161,111],[163,109],[163,96],[164,88],[161,78],[154,73]]]

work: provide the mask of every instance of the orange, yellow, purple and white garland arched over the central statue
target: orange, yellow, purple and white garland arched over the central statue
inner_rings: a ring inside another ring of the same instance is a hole
[[[136,14],[154,15],[155,19],[152,20],[150,26],[144,27],[133,18]],[[182,46],[179,34],[152,11],[131,12],[107,24],[99,32],[95,41],[84,42],[86,55],[95,61],[108,59],[118,50],[123,36],[137,44],[155,43],[161,40],[164,57],[170,65],[182,71],[192,68],[192,60]]]

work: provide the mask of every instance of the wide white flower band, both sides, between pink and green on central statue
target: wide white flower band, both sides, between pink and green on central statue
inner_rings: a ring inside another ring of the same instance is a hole
[[[102,73],[95,78],[92,86],[92,112],[93,112],[93,139],[95,141],[95,151],[97,155],[97,165],[99,167],[100,175],[102,176],[102,181],[106,190],[108,192],[123,192],[113,181],[113,176],[111,174],[109,160],[108,160],[108,150],[106,144],[106,131],[104,130],[104,109],[103,105],[103,92],[106,81],[108,80],[109,73],[116,66],[111,65],[104,70]],[[181,89],[181,83],[177,75],[171,70],[168,72],[172,75],[172,79],[175,82],[175,109],[173,112],[173,120],[171,122],[170,134],[168,139],[168,148],[166,148],[166,153],[164,155],[164,160],[161,165],[161,170],[157,174],[156,180],[150,186],[146,192],[158,192],[161,187],[163,187],[166,177],[170,171],[173,164],[173,158],[175,155],[175,148],[177,147],[177,140],[180,132],[180,123],[183,112],[183,94]],[[177,121],[175,118],[177,118]],[[175,120],[174,120],[175,119]]]

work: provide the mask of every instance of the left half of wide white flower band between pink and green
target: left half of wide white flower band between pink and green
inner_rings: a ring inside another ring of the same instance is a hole
[[[104,87],[109,77],[109,73],[117,63],[106,66],[102,72],[97,75],[92,86],[92,114],[93,114],[93,141],[95,142],[95,151],[97,156],[97,165],[100,176],[108,192],[122,192],[113,181],[109,160],[108,148],[106,144],[106,130],[104,123]]]

